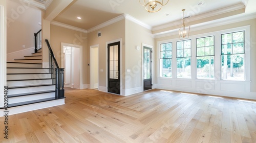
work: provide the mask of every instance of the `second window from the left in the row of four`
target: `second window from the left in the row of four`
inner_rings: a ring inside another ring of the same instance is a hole
[[[177,42],[177,78],[191,78],[191,40]]]

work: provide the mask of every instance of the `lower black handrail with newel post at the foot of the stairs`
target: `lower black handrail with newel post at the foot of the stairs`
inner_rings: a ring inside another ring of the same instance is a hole
[[[52,48],[49,41],[46,39],[46,44],[49,49],[49,67],[52,73],[52,78],[55,79],[53,84],[55,84],[55,99],[61,99],[64,97],[64,68],[59,68],[57,60],[54,57]]]

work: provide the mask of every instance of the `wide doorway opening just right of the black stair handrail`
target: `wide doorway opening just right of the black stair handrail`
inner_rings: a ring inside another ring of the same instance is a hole
[[[82,46],[61,43],[61,68],[64,70],[64,86],[82,88]]]

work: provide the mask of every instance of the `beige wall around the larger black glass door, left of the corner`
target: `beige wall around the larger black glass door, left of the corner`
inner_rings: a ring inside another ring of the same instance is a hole
[[[120,20],[118,22],[113,23],[112,25],[106,26],[99,30],[90,32],[88,34],[88,51],[87,56],[90,59],[90,46],[99,45],[99,69],[103,69],[103,71],[99,72],[99,86],[106,87],[106,42],[113,41],[121,38],[122,42],[125,43],[125,20]],[[98,37],[97,33],[101,31],[101,36]],[[122,51],[125,51],[125,45],[122,44]],[[122,59],[124,58],[124,53],[122,53]],[[123,60],[124,61],[124,60]],[[88,61],[87,63],[90,63]],[[122,63],[122,68],[124,69],[124,64]],[[90,66],[88,67],[88,77],[90,78]],[[89,79],[90,81],[90,79]]]

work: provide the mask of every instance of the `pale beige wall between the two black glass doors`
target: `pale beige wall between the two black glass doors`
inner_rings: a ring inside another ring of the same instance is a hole
[[[154,46],[154,38],[150,30],[134,23],[131,20],[125,20],[125,89],[142,87],[142,43]],[[136,50],[136,46],[140,46]],[[153,47],[154,51],[154,47]],[[130,72],[127,72],[130,69]]]

